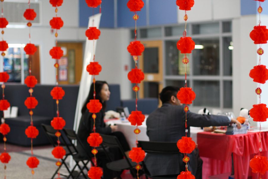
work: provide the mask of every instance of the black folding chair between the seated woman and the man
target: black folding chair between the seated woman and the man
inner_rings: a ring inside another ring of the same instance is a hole
[[[105,155],[107,156],[109,163],[106,164],[107,168],[113,171],[116,171],[118,173],[118,178],[121,178],[121,173],[123,170],[130,170],[130,173],[133,177],[136,176],[135,172],[135,166],[137,163],[132,162],[131,159],[126,156],[120,142],[118,141],[116,136],[113,135],[104,135],[100,134],[102,136],[102,148],[105,152]],[[121,154],[124,156],[124,159],[112,161],[109,152],[107,152],[107,147],[116,147],[119,148]]]

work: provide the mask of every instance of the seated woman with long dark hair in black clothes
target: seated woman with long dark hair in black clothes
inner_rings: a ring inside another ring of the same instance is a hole
[[[104,123],[104,112],[105,112],[105,107],[106,107],[106,101],[108,101],[110,98],[110,91],[109,91],[109,86],[107,82],[96,81],[95,91],[96,91],[95,99],[98,99],[102,103],[101,111],[96,113],[96,119],[95,119],[96,132],[100,134],[116,136],[118,140],[120,141],[121,146],[123,147],[124,151],[128,153],[128,151],[130,151],[130,147],[123,133],[117,131],[118,129],[117,126],[105,126],[105,123]],[[88,97],[82,107],[82,110],[81,110],[82,117],[81,117],[79,128],[77,131],[77,135],[82,141],[83,147],[88,152],[88,155],[92,155],[91,154],[92,148],[91,146],[89,146],[87,142],[87,138],[89,134],[93,131],[93,125],[94,125],[92,113],[90,113],[87,109],[87,103],[91,99],[94,99],[94,84],[93,83],[90,86]],[[80,149],[81,147],[82,146],[80,146],[79,143],[77,143],[77,149],[79,149],[79,151],[82,151],[82,149]],[[121,152],[117,148],[110,148],[109,152],[111,155],[110,157],[113,158],[114,160],[119,160],[123,158],[123,156],[121,155]],[[106,168],[106,163],[108,162],[106,156],[102,154],[102,152],[99,152],[97,155],[97,158],[98,158],[98,161],[101,162],[101,166],[103,168],[103,173],[104,173],[104,179],[114,178],[116,176],[116,173]]]

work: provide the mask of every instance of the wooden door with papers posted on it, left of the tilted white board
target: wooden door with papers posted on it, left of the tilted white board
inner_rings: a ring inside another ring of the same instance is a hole
[[[59,84],[79,84],[82,74],[82,43],[58,43],[63,50],[63,57],[58,61]]]

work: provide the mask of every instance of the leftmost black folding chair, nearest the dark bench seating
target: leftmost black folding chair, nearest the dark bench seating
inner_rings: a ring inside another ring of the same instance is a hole
[[[57,137],[55,136],[55,133],[57,132],[57,130],[53,129],[52,126],[50,125],[46,125],[46,124],[41,124],[43,130],[45,131],[45,134],[46,136],[48,137],[49,139],[49,142],[52,144],[53,147],[57,146]],[[66,155],[63,159],[61,159],[61,165],[59,166],[59,168],[54,172],[54,174],[52,175],[52,178],[53,179],[55,177],[55,175],[57,174],[57,172],[59,171],[59,169],[61,168],[62,165],[64,165],[67,169],[67,171],[69,172],[69,175],[71,175],[71,171],[69,170],[69,166],[66,164],[66,159],[68,156],[70,155],[73,155],[74,153],[76,153],[76,151],[71,147],[71,146],[68,146],[66,144],[66,141],[64,140],[63,137],[60,137],[63,141],[63,144],[65,145],[63,148],[65,149],[66,151]],[[61,174],[63,175],[63,174]],[[65,177],[67,177],[66,175],[63,175]]]

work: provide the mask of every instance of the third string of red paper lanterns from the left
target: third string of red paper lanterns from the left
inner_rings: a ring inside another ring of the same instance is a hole
[[[63,0],[49,0],[49,3],[52,5],[52,7],[55,7],[55,17],[53,17],[50,21],[49,24],[51,26],[52,29],[55,29],[55,37],[56,37],[56,46],[52,47],[52,49],[49,51],[49,54],[52,56],[53,59],[56,60],[56,63],[54,64],[54,67],[56,68],[56,87],[54,87],[51,92],[50,95],[52,96],[52,98],[54,100],[56,100],[56,104],[57,104],[57,117],[54,117],[53,120],[51,121],[51,126],[57,130],[57,132],[55,133],[55,136],[57,137],[57,146],[54,147],[54,149],[52,150],[52,155],[54,156],[54,158],[57,158],[57,162],[56,162],[56,166],[58,166],[58,179],[60,179],[60,159],[63,158],[63,156],[66,154],[65,149],[63,149],[62,146],[60,146],[60,136],[61,133],[59,130],[63,129],[63,127],[65,126],[65,120],[60,117],[60,111],[59,111],[59,100],[61,100],[63,98],[63,96],[65,95],[65,91],[62,89],[62,87],[58,87],[58,60],[63,56],[63,50],[61,50],[60,47],[58,47],[58,41],[57,41],[57,37],[58,37],[58,30],[60,30],[61,27],[63,27],[63,20],[57,16],[57,12],[58,12],[58,7],[62,5]]]

